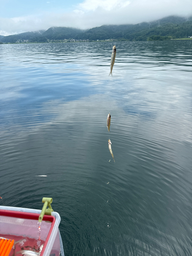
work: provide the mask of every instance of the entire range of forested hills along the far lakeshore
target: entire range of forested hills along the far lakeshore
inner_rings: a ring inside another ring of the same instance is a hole
[[[103,25],[89,30],[51,27],[48,30],[1,36],[4,43],[49,42],[59,40],[163,40],[192,36],[192,16],[169,16],[150,23],[136,25]]]

